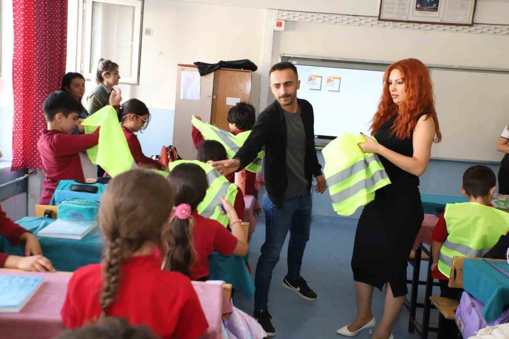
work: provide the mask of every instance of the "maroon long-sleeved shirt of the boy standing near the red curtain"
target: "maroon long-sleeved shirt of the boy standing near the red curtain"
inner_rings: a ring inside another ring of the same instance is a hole
[[[99,129],[91,134],[74,135],[55,129],[41,132],[37,149],[42,159],[44,188],[39,204],[49,204],[60,180],[85,181],[79,152],[96,146],[98,142]]]

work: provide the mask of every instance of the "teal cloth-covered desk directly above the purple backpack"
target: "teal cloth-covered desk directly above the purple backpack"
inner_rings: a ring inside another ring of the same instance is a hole
[[[509,264],[504,261],[492,264],[509,272]],[[488,323],[500,317],[509,304],[509,277],[484,260],[465,259],[463,288],[485,304],[483,316]]]

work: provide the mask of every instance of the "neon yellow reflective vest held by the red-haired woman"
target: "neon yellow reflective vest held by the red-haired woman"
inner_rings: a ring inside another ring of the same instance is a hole
[[[332,207],[339,215],[352,215],[375,199],[377,189],[390,184],[378,156],[362,153],[358,144],[364,142],[360,133],[341,133],[322,150]]]

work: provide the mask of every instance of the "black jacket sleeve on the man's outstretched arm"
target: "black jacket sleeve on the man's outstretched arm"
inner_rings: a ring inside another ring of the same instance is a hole
[[[244,145],[239,149],[234,158],[240,160],[239,170],[250,164],[260,153],[263,146],[268,142],[271,131],[271,121],[267,112],[262,112],[254,123],[251,133]]]

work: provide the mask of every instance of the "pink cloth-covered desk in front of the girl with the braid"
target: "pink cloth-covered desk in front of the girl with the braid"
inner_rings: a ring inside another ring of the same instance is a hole
[[[20,313],[0,313],[0,336],[16,339],[50,339],[65,330],[60,310],[67,293],[70,273],[39,273],[0,269],[0,274],[42,276],[44,282]],[[193,281],[209,323],[205,338],[222,338],[222,315],[232,313],[232,304],[220,284]]]

